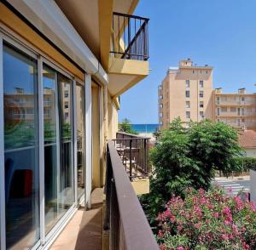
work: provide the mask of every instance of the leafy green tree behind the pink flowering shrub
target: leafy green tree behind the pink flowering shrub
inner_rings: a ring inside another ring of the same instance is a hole
[[[189,186],[207,190],[215,170],[227,173],[236,168],[235,157],[241,155],[241,147],[234,128],[207,120],[189,125],[184,128],[177,118],[150,151],[154,170],[145,208],[152,218],[162,211],[172,195],[183,196]]]

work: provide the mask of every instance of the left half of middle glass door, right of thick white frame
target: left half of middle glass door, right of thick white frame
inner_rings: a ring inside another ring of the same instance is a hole
[[[57,73],[44,65],[44,216],[46,233],[58,219],[56,79]]]

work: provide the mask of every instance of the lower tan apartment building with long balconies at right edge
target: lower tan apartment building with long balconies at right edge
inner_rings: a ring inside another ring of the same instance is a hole
[[[236,94],[226,94],[217,88],[213,95],[214,121],[237,129],[256,129],[256,94],[247,94],[245,88],[239,88]]]

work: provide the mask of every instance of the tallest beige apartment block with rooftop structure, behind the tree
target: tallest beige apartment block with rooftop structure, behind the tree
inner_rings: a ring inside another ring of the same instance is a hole
[[[184,123],[212,119],[212,67],[181,60],[178,67],[168,69],[158,94],[160,129],[178,116]]]

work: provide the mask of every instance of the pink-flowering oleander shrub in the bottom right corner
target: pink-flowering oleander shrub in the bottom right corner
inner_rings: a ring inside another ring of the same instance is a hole
[[[172,196],[157,221],[160,249],[256,249],[256,204],[221,188]]]

